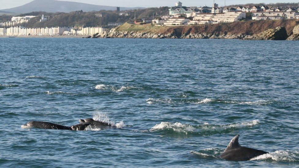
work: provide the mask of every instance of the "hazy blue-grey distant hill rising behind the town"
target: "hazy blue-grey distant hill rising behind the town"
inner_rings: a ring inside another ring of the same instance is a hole
[[[144,9],[142,7],[120,7],[120,10],[130,9]],[[10,8],[1,9],[5,12],[12,13],[30,13],[33,11],[44,11],[44,12],[72,12],[77,10],[83,10],[84,12],[99,11],[99,10],[116,10],[114,6],[100,6],[91,5],[79,2],[67,2],[67,1],[56,1],[56,0],[34,0],[25,5]]]

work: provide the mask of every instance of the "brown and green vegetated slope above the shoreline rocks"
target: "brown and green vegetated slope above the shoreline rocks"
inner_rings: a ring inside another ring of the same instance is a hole
[[[267,21],[240,21],[233,23],[222,24],[204,24],[204,25],[186,25],[186,26],[154,26],[154,25],[135,25],[125,23],[117,28],[117,31],[128,32],[151,32],[160,34],[185,34],[191,32],[206,33],[216,35],[255,35],[268,30],[269,28],[275,28],[277,26],[283,26],[286,28],[288,35],[291,34],[293,28],[299,24],[299,20],[267,20]]]

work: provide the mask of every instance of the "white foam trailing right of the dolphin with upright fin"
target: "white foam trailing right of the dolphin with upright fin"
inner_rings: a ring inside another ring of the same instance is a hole
[[[267,153],[264,155],[257,156],[250,159],[253,160],[273,160],[273,161],[283,161],[283,162],[298,162],[299,161],[299,151],[275,151]]]

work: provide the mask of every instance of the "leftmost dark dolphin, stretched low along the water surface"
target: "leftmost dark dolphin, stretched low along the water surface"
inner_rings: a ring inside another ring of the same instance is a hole
[[[54,124],[51,122],[30,121],[27,124],[22,125],[22,127],[28,126],[28,127],[39,128],[39,129],[61,129],[61,130],[83,131],[86,129],[86,127],[88,125],[90,125],[89,122],[84,122],[84,123],[80,123],[80,124],[72,125],[72,126],[68,127],[68,126],[64,126],[64,125]]]

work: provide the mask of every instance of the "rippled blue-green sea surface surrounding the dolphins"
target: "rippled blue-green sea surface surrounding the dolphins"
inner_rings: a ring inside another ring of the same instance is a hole
[[[0,166],[298,167],[298,44],[0,38]],[[21,128],[84,118],[116,128]],[[270,153],[218,159],[237,134]]]

